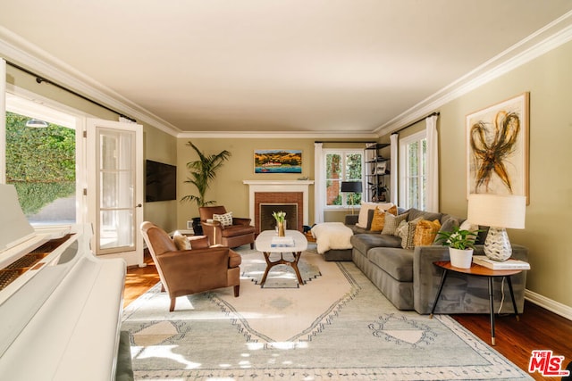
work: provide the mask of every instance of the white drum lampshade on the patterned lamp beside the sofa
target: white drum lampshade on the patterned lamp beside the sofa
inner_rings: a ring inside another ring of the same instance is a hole
[[[476,225],[494,228],[525,228],[526,196],[468,196],[467,220]]]

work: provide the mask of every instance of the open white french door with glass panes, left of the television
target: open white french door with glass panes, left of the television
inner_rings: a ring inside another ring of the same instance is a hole
[[[92,250],[143,266],[143,128],[88,119],[87,137]]]

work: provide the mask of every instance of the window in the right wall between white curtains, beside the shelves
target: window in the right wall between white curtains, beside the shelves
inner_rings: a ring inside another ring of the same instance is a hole
[[[400,205],[426,209],[427,138],[425,131],[400,139]]]

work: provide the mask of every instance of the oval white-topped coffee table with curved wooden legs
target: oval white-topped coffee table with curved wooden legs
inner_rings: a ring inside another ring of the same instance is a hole
[[[266,269],[265,275],[260,280],[260,285],[264,285],[266,277],[268,276],[268,271],[276,265],[287,265],[294,269],[296,272],[296,277],[298,277],[298,282],[300,285],[304,285],[304,281],[300,276],[300,271],[298,269],[298,262],[302,256],[302,252],[307,249],[307,239],[298,230],[286,230],[286,236],[292,237],[294,241],[293,246],[273,246],[273,237],[276,237],[275,230],[265,230],[257,236],[255,245],[257,251],[265,254]],[[280,260],[270,261],[271,253],[280,253]],[[294,261],[287,261],[283,258],[282,253],[292,253],[294,255]]]

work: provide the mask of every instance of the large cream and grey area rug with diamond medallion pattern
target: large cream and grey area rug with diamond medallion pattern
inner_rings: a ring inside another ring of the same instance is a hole
[[[303,285],[263,288],[262,253],[241,254],[238,298],[190,295],[170,313],[157,285],[128,306],[136,379],[531,379],[448,316],[396,310],[352,262],[310,249]]]

